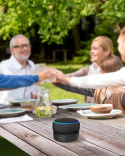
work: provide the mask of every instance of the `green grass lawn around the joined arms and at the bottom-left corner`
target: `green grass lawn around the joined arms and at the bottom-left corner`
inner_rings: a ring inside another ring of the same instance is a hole
[[[62,64],[47,64],[47,67],[55,67],[55,68],[63,71],[66,74],[66,73],[71,73],[71,72],[74,72],[74,71],[82,68],[83,65],[75,65],[75,64],[68,65],[68,64],[62,63]],[[71,98],[71,99],[80,99],[81,101],[79,101],[78,103],[84,102],[83,95],[64,91],[64,90],[56,87],[52,83],[45,83],[42,86],[50,89],[49,95],[50,95],[51,100],[66,99],[66,98],[70,99]],[[5,155],[5,156],[17,156],[17,155],[18,156],[27,156],[27,154],[25,152],[23,152],[18,147],[14,146],[13,144],[11,144],[9,141],[2,138],[1,136],[0,136],[0,154],[1,154],[1,156],[2,155]]]

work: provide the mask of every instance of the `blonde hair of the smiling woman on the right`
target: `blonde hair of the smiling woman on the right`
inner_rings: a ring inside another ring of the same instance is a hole
[[[113,53],[113,43],[112,40],[107,36],[99,36],[92,40],[92,42],[98,42],[104,51],[109,50],[110,53]]]

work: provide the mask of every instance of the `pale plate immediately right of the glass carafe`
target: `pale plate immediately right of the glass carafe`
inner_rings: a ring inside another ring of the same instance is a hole
[[[79,99],[57,99],[57,100],[51,100],[52,104],[54,105],[67,105],[67,104],[73,104],[80,101]]]

